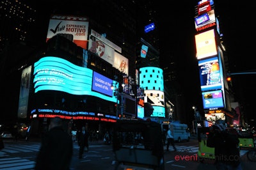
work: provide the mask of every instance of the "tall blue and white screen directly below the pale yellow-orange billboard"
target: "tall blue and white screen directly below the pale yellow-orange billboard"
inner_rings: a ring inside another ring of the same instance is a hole
[[[202,91],[221,89],[221,66],[218,57],[198,61],[199,76]]]

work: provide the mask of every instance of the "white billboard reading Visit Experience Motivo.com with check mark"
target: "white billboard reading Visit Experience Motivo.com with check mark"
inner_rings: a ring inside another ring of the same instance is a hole
[[[51,15],[46,41],[61,34],[68,37],[77,46],[87,49],[88,26],[89,22],[85,17]]]

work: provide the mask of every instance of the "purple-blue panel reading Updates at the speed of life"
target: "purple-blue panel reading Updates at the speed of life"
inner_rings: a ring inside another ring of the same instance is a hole
[[[99,93],[112,97],[113,96],[113,90],[111,89],[112,84],[113,84],[113,80],[97,72],[93,72],[93,79],[92,79],[93,91],[98,91]]]

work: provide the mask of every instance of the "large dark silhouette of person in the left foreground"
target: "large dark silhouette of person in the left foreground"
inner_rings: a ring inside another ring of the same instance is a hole
[[[61,118],[51,118],[36,157],[35,170],[68,170],[73,155],[72,137],[63,130]]]

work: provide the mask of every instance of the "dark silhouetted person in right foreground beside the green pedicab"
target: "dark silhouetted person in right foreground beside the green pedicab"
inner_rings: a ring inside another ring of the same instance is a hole
[[[242,170],[238,136],[226,132],[224,120],[217,120],[210,127],[210,132],[207,136],[207,146],[214,148],[217,170]]]

